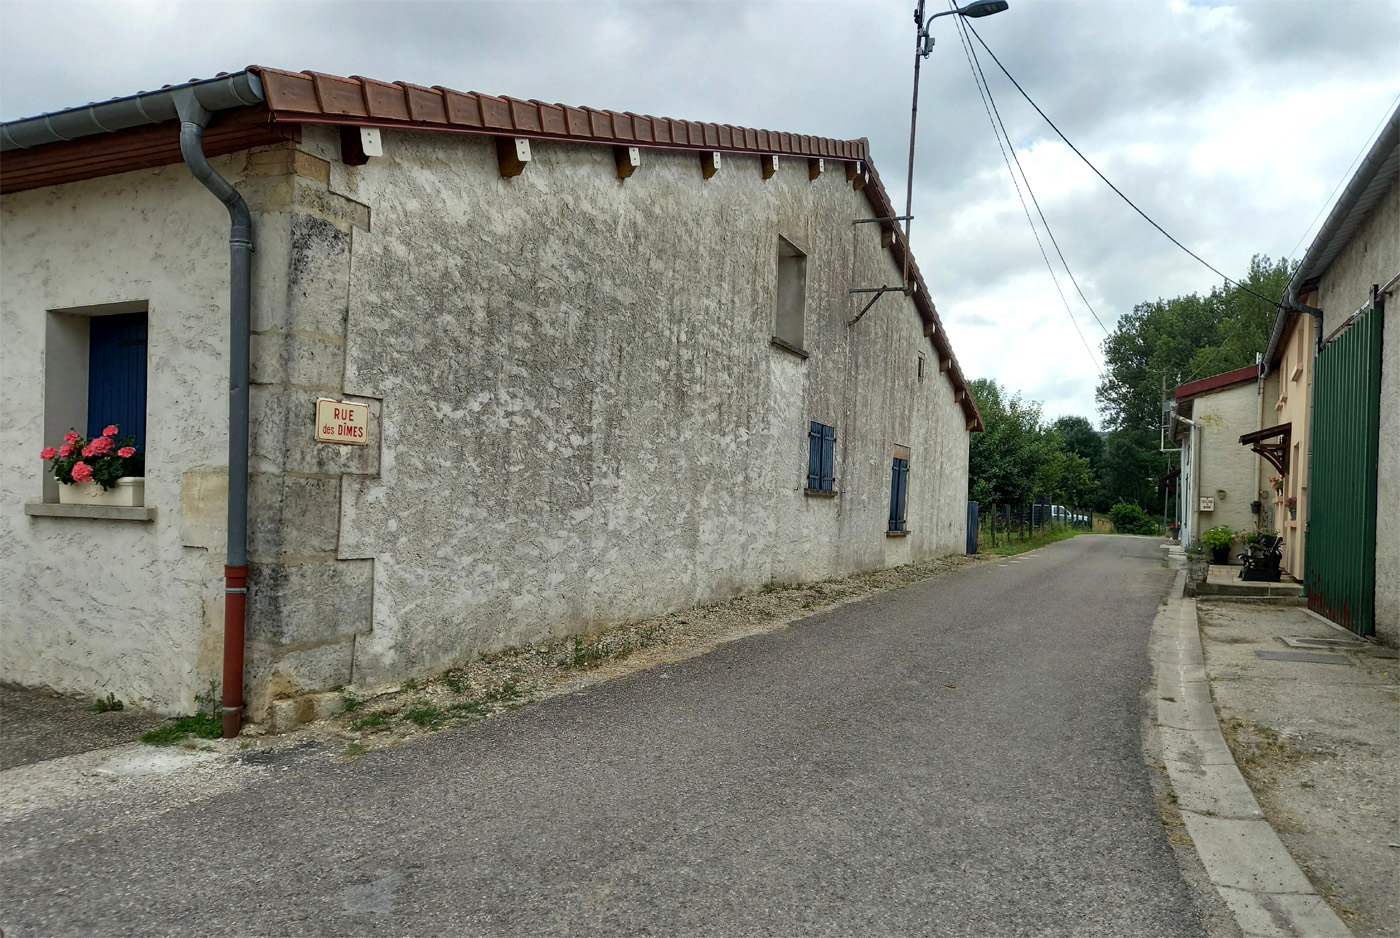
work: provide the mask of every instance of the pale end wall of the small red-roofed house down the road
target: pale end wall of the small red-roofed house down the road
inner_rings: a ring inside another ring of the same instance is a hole
[[[1198,427],[1193,454],[1197,500],[1190,505],[1196,517],[1194,539],[1215,525],[1252,531],[1250,503],[1264,497],[1259,484],[1260,459],[1239,438],[1259,430],[1257,382],[1200,395],[1193,402],[1191,419]],[[1200,511],[1203,497],[1215,498],[1214,511]],[[1232,554],[1239,553],[1236,543]]]

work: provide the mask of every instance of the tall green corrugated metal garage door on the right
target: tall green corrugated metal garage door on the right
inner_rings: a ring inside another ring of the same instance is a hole
[[[1364,314],[1317,353],[1308,503],[1308,606],[1358,636],[1375,633],[1380,330]]]

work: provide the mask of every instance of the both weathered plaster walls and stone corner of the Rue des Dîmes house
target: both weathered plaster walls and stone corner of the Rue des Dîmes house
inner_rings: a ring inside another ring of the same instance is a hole
[[[967,433],[839,162],[333,130],[214,161],[253,209],[248,713],[337,683],[963,545]],[[188,713],[221,657],[227,221],[183,167],[7,196],[4,680]],[[372,224],[371,224],[372,213]],[[137,232],[140,237],[137,237]],[[777,238],[808,253],[808,360],[774,349]],[[150,309],[148,524],[34,518],[49,309]],[[924,356],[924,379],[917,378]],[[371,445],[315,444],[318,396]],[[381,403],[382,399],[382,403]],[[837,428],[837,498],[802,494]],[[907,538],[889,462],[913,449]]]

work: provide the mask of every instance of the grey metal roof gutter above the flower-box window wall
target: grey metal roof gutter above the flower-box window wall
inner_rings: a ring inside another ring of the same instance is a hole
[[[0,123],[0,153],[28,150],[98,133],[113,133],[179,119],[176,98],[192,98],[204,111],[227,111],[265,101],[262,80],[252,71],[140,91],[83,108],[69,108]]]

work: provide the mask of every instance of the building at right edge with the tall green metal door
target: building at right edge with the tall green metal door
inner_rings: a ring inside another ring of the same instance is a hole
[[[1383,512],[1400,505],[1397,181],[1400,109],[1289,280],[1264,356],[1274,426],[1260,433],[1274,435],[1242,441],[1287,455],[1285,496],[1298,498],[1296,526],[1287,524],[1306,532],[1295,563],[1308,605],[1392,645],[1400,643],[1400,525]]]

